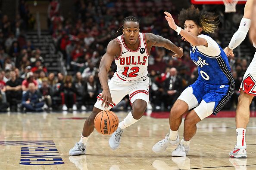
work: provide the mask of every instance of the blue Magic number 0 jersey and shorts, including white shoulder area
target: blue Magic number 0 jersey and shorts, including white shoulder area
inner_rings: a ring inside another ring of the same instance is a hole
[[[198,78],[189,87],[200,103],[215,102],[213,114],[216,115],[234,92],[234,78],[228,64],[228,58],[222,48],[209,36],[199,35],[206,39],[208,47],[190,47],[190,58],[197,65]]]

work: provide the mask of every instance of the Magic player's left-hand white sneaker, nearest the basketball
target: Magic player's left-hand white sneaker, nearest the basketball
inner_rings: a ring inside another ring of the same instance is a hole
[[[170,140],[169,134],[166,134],[165,139],[156,143],[152,151],[155,153],[163,152],[165,149],[170,145],[177,145],[180,141],[179,135],[177,136],[176,140]]]

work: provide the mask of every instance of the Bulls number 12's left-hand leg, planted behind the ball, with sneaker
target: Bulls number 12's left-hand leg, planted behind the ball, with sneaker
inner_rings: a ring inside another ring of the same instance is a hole
[[[75,143],[75,146],[69,150],[70,156],[82,155],[86,153],[87,140],[90,134],[94,131],[94,118],[101,111],[101,109],[98,109],[94,106],[91,115],[84,122],[83,133],[81,134],[80,141],[78,143]]]

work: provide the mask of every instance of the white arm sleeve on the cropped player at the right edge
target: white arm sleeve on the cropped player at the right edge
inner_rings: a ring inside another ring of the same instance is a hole
[[[234,33],[234,35],[232,36],[232,39],[228,45],[228,48],[230,49],[235,49],[237,46],[240,45],[240,43],[242,43],[248,33],[248,30],[250,28],[251,25],[251,20],[248,18],[242,18],[239,28],[237,30],[237,32]]]

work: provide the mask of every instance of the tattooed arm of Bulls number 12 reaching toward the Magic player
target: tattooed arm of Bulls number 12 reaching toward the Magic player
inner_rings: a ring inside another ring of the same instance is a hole
[[[165,49],[169,49],[172,52],[175,52],[175,55],[173,57],[182,57],[183,56],[183,49],[180,47],[175,46],[174,43],[172,43],[169,39],[163,38],[162,36],[155,35],[153,33],[145,33],[145,38],[147,44],[157,47],[164,47]]]

